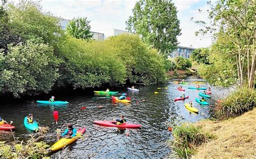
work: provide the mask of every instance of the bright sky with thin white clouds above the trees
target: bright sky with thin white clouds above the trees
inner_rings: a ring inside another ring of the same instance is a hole
[[[208,47],[211,38],[196,37],[194,32],[200,26],[191,21],[207,20],[205,12],[199,13],[198,9],[208,9],[206,0],[173,0],[178,10],[181,35],[178,37],[179,46],[194,48]],[[42,0],[43,10],[50,11],[57,17],[72,19],[74,17],[87,17],[90,20],[91,31],[104,32],[104,30],[117,28],[125,30],[125,21],[132,16],[134,0]]]

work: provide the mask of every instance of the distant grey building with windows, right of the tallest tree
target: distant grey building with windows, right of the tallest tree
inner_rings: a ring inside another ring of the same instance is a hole
[[[192,47],[184,47],[184,46],[178,46],[176,50],[174,50],[168,57],[169,58],[175,58],[175,57],[184,57],[186,59],[189,59],[191,56],[191,53],[196,48]]]

